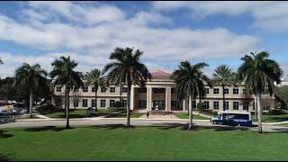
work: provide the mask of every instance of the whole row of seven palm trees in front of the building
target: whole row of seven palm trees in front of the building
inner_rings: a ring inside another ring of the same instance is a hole
[[[47,76],[52,81],[52,87],[59,85],[65,87],[64,105],[67,116],[66,128],[69,128],[69,91],[75,90],[83,85],[94,85],[95,101],[97,101],[98,87],[113,85],[127,85],[127,124],[130,128],[130,90],[131,85],[145,86],[151,79],[148,67],[141,62],[143,51],[133,48],[116,48],[112,51],[109,59],[112,60],[103,67],[103,70],[94,68],[85,74],[75,70],[77,63],[70,57],[60,57],[51,63],[52,71],[47,73],[39,64],[33,66],[23,63],[14,73],[14,86],[25,87],[26,96],[29,93],[30,115],[32,117],[33,95],[37,94],[40,88],[50,88]],[[258,132],[262,133],[262,107],[261,96],[266,91],[269,94],[275,93],[275,83],[280,84],[283,70],[279,64],[269,58],[266,51],[251,52],[240,58],[241,65],[236,72],[226,65],[217,67],[209,78],[202,72],[203,67],[208,65],[204,62],[194,63],[184,60],[172,73],[177,90],[177,101],[188,100],[189,103],[189,128],[193,130],[193,101],[198,96],[200,101],[205,97],[205,85],[220,85],[222,87],[223,110],[225,111],[225,87],[244,82],[247,94],[254,94],[256,112],[258,119]],[[3,61],[0,58],[0,64]],[[97,110],[97,104],[95,105]]]

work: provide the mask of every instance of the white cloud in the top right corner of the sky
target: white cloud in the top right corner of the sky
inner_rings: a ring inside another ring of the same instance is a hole
[[[288,31],[288,4],[286,2],[266,1],[205,1],[205,2],[153,2],[157,11],[167,11],[186,8],[191,10],[193,17],[203,18],[213,14],[238,16],[251,14],[255,18],[253,27],[271,32]]]

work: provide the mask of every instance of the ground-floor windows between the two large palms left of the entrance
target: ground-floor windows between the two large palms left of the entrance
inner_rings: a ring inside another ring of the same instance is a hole
[[[115,100],[109,100],[109,107],[113,107],[115,104]],[[79,99],[74,99],[73,103],[74,107],[79,107]],[[95,107],[96,102],[95,99],[91,100],[91,107]],[[88,99],[82,99],[82,107],[88,107]],[[127,100],[121,100],[121,106],[126,107],[127,106]],[[100,107],[105,108],[106,107],[106,100],[100,100]]]

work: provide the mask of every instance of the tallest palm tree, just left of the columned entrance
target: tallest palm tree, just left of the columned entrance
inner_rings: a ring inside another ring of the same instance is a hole
[[[144,86],[145,82],[151,78],[148,68],[139,60],[142,55],[143,51],[139,49],[133,52],[130,48],[116,48],[109,58],[114,61],[103,68],[103,73],[108,72],[107,83],[127,84],[127,128],[130,128],[131,85]]]

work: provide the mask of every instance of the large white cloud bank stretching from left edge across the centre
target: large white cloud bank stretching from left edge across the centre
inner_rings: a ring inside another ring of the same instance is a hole
[[[23,61],[38,62],[49,69],[50,62],[61,55],[55,51],[63,49],[79,62],[79,70],[86,71],[102,67],[115,47],[127,46],[144,50],[150,69],[161,67],[172,71],[174,67],[169,67],[166,61],[203,56],[239,58],[250,50],[256,50],[260,41],[257,37],[236,34],[224,28],[151,27],[151,24],[173,23],[170,18],[155,12],[141,11],[126,17],[124,11],[112,5],[58,3],[31,2],[28,8],[23,9],[29,21],[23,21],[27,20],[25,16],[16,20],[0,14],[0,40],[44,50],[38,56],[0,53],[4,59],[1,68],[9,68],[1,70],[0,75],[13,75],[14,68],[21,66]],[[67,20],[63,21],[61,16]],[[159,66],[160,62],[166,66]]]

